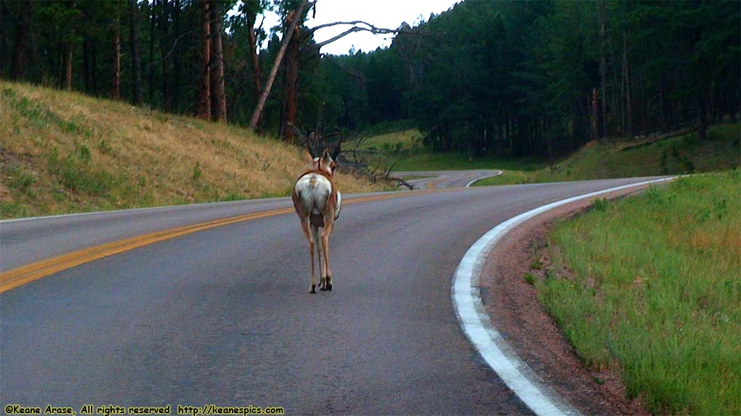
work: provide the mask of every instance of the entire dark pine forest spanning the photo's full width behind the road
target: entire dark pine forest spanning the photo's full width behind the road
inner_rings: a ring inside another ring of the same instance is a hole
[[[252,121],[288,141],[295,127],[408,119],[436,150],[550,155],[686,125],[702,136],[737,117],[740,8],[463,1],[413,27],[349,22],[345,34],[396,37],[388,49],[323,56],[326,42],[314,39],[322,27],[305,24],[317,13],[308,0],[2,0],[1,74]],[[282,16],[279,27],[260,23],[268,9]]]

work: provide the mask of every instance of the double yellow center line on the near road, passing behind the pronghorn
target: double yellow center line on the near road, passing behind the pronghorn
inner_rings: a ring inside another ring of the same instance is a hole
[[[345,204],[358,204],[366,201],[379,201],[382,199],[399,198],[401,196],[423,195],[439,191],[421,191],[421,192],[399,192],[388,195],[371,195],[360,198],[352,198],[345,201]],[[228,224],[234,224],[242,221],[250,221],[258,218],[271,217],[293,212],[293,208],[270,209],[268,211],[253,212],[252,214],[237,215],[235,217],[222,218],[219,220],[206,221],[199,224],[190,224],[183,227],[165,229],[162,231],[151,232],[149,234],[137,235],[136,237],[124,238],[123,240],[113,241],[99,246],[88,247],[74,252],[68,252],[45,260],[36,261],[35,263],[19,266],[10,269],[7,272],[0,272],[0,293],[13,289],[31,281],[36,281],[56,272],[70,269],[80,264],[98,260],[109,255],[126,252],[130,249],[136,249],[141,246],[147,246],[159,241],[169,240],[170,238],[180,237],[182,235],[192,234],[193,232],[203,231],[215,227],[222,227]]]

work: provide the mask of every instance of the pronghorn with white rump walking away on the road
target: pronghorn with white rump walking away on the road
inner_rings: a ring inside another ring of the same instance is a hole
[[[309,145],[308,153],[312,158],[312,169],[304,172],[293,186],[291,198],[296,214],[301,219],[301,228],[309,241],[311,258],[311,289],[316,293],[314,272],[314,245],[319,255],[319,272],[321,285],[319,290],[332,290],[332,271],[329,266],[329,236],[334,221],[342,209],[342,195],[333,181],[333,172],[337,167],[335,159],[339,154],[339,143],[328,147],[317,156]],[[322,228],[321,235],[319,228]]]

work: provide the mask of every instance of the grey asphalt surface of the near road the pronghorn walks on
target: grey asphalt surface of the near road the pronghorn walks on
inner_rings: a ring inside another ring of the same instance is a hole
[[[0,404],[528,414],[460,329],[453,272],[468,246],[507,218],[640,180],[348,204],[332,238],[333,292],[316,295],[293,213],[58,272],[0,295]],[[289,206],[281,198],[3,222],[0,263],[7,270],[153,229]]]

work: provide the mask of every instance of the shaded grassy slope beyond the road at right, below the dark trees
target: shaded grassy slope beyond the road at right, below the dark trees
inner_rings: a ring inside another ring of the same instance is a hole
[[[645,144],[590,142],[568,158],[535,172],[514,168],[476,186],[728,170],[741,164],[741,125],[720,124],[700,142],[696,133]]]

